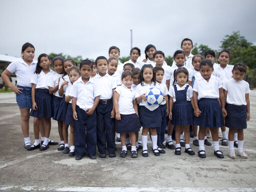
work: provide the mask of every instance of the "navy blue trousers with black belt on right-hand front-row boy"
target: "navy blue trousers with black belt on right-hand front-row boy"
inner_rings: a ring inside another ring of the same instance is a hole
[[[111,110],[113,108],[113,102],[106,104],[98,103],[96,107],[97,113],[97,147],[99,153],[106,152],[106,146],[108,152],[113,153],[114,148],[114,119],[110,117]]]

